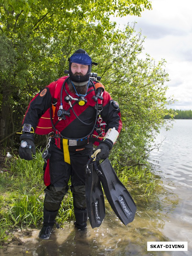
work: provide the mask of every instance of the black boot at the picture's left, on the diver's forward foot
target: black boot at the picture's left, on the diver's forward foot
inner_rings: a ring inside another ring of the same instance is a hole
[[[39,232],[39,238],[41,239],[49,239],[51,232],[53,231],[53,225],[55,224],[55,218],[57,216],[58,211],[56,212],[48,212],[44,209],[44,222],[41,231]]]

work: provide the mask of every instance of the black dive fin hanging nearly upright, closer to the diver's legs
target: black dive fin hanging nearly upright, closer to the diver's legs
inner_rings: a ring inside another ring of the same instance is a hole
[[[99,227],[105,218],[105,202],[100,179],[95,171],[93,164],[89,164],[86,170],[85,196],[87,213],[92,228]]]

